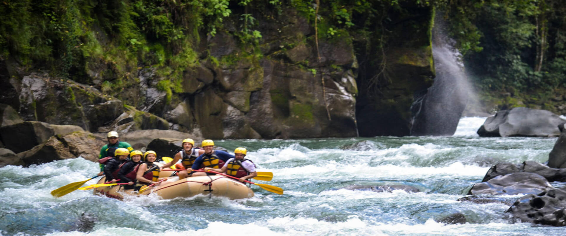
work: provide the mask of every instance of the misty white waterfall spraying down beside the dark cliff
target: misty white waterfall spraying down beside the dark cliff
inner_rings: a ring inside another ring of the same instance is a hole
[[[462,55],[448,37],[440,12],[432,28],[432,55],[436,77],[426,91],[417,91],[411,105],[411,135],[451,136],[468,104],[471,87],[464,72]]]

